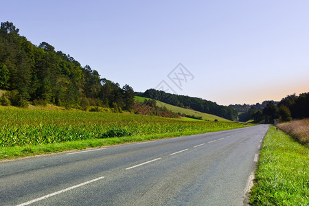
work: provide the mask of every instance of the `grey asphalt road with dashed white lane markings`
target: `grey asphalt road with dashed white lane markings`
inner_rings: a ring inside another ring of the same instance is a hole
[[[0,205],[243,205],[268,126],[0,163]]]

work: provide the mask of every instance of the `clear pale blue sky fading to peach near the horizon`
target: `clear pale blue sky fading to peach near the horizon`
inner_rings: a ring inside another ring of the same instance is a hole
[[[309,91],[309,1],[0,3],[1,22],[34,45],[45,41],[135,91],[164,80],[170,91],[225,105]]]

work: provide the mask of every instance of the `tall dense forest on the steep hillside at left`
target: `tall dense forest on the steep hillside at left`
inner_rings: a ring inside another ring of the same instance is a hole
[[[106,106],[131,111],[135,103],[128,84],[121,88],[100,78],[98,71],[82,67],[46,42],[33,45],[10,22],[0,27],[0,89],[7,91],[0,97],[2,105]]]

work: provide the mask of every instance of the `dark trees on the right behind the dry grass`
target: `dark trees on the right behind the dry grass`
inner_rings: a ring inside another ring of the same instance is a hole
[[[274,119],[279,122],[289,122],[292,119],[309,118],[309,92],[298,96],[288,95],[280,102],[268,101],[264,108],[251,106],[247,112],[239,115],[240,122],[254,119],[254,122],[273,123]]]

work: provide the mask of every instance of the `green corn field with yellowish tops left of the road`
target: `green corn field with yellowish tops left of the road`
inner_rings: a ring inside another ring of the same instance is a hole
[[[3,148],[93,138],[239,127],[242,127],[242,124],[184,122],[181,119],[134,114],[0,107],[0,147]]]

